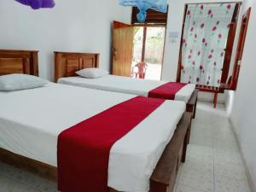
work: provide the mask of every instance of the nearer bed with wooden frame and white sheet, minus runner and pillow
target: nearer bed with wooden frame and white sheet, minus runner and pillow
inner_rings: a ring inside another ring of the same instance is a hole
[[[0,74],[37,75],[33,55],[37,52],[0,50]],[[29,64],[25,65],[24,61]],[[29,70],[24,69],[26,66]],[[0,160],[56,181],[56,146],[60,132],[132,97],[54,83],[32,90],[0,92]],[[189,140],[191,113],[184,111],[183,102],[166,101],[113,145],[108,166],[110,192],[172,191]],[[155,137],[158,134],[161,137]],[[150,142],[153,136],[154,144]],[[127,143],[130,144],[127,146]],[[143,143],[142,148],[137,148],[138,143]],[[147,151],[148,159],[141,158],[140,152],[145,153],[145,148],[152,149]],[[129,154],[132,151],[137,151],[136,155]],[[145,164],[141,159],[146,160],[149,175],[139,174],[136,167],[138,177],[127,177],[126,173],[135,169],[131,157],[138,165]],[[118,163],[120,160],[122,164]],[[142,182],[137,183],[142,177]],[[123,183],[117,183],[119,178]]]

